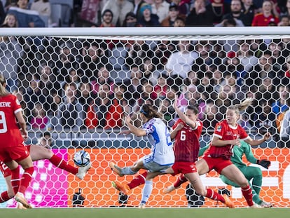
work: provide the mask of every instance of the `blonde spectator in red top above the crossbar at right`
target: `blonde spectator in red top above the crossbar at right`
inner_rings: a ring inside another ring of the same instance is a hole
[[[269,22],[275,22],[276,25],[279,23],[279,18],[274,13],[274,5],[270,0],[263,1],[262,13],[258,13],[254,16],[252,27],[267,27]]]

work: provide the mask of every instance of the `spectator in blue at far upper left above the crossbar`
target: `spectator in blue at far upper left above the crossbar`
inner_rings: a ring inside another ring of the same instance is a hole
[[[12,13],[18,20],[19,27],[45,27],[37,11],[28,10],[28,0],[18,0],[18,8],[10,7],[7,13]]]

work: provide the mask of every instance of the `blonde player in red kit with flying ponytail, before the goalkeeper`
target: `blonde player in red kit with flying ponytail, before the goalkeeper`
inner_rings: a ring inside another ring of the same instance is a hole
[[[247,132],[237,124],[237,120],[240,118],[240,111],[251,105],[251,102],[252,99],[247,98],[240,104],[228,107],[226,120],[216,124],[209,149],[205,151],[205,155],[196,163],[196,168],[198,168],[200,175],[204,175],[214,169],[219,174],[238,184],[249,207],[254,207],[251,188],[246,177],[230,161],[230,157],[233,155],[233,147],[240,146],[240,140],[244,140],[251,146],[256,146],[265,142],[271,136],[267,132],[262,139],[251,139]],[[186,181],[186,177],[181,175],[173,186],[168,186],[163,192],[169,193]]]

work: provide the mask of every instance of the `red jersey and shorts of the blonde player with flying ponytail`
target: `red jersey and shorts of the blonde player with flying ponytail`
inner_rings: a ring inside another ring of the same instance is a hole
[[[240,125],[233,127],[232,125],[228,125],[226,120],[216,123],[214,136],[219,137],[221,140],[247,139],[249,137],[247,132]],[[233,155],[233,146],[233,144],[212,146],[211,142],[209,149],[205,151],[205,156],[210,156],[212,158],[223,157],[226,160],[230,160],[230,157]]]

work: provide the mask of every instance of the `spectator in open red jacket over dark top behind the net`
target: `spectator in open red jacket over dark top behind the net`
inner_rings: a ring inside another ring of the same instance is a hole
[[[121,128],[123,126],[123,107],[110,93],[110,86],[102,84],[98,97],[92,100],[85,118],[85,126],[94,128]]]

